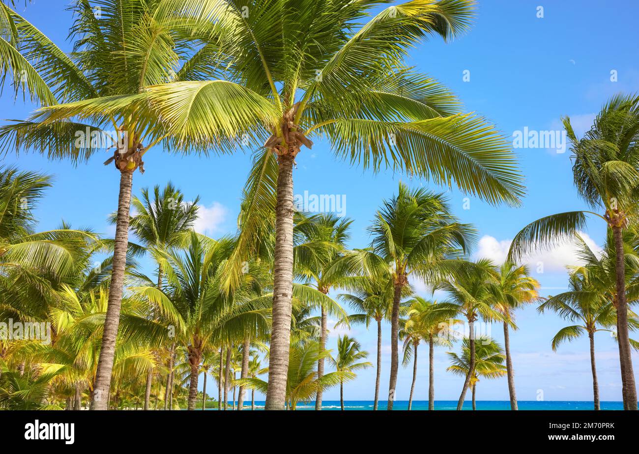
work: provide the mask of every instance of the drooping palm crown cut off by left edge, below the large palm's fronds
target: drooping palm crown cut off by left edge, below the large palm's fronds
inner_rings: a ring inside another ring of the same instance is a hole
[[[51,186],[49,176],[0,166],[0,314],[44,321],[61,304],[60,284],[72,284],[91,253],[105,246],[90,231],[37,232],[33,210]],[[55,336],[55,333],[54,333]]]

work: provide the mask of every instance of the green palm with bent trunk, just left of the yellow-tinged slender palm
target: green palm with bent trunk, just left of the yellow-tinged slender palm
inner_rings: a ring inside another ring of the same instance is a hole
[[[480,259],[475,263],[468,263],[468,266],[459,269],[452,280],[443,280],[438,285],[439,289],[449,293],[448,303],[440,303],[442,306],[455,310],[457,314],[463,315],[468,321],[469,357],[468,373],[464,381],[464,386],[457,402],[457,409],[461,410],[464,405],[466,391],[471,385],[477,358],[475,356],[475,321],[482,317],[484,321],[502,321],[504,316],[495,309],[495,294],[497,294],[498,272],[493,262],[487,259]],[[479,339],[478,339],[479,340]]]

